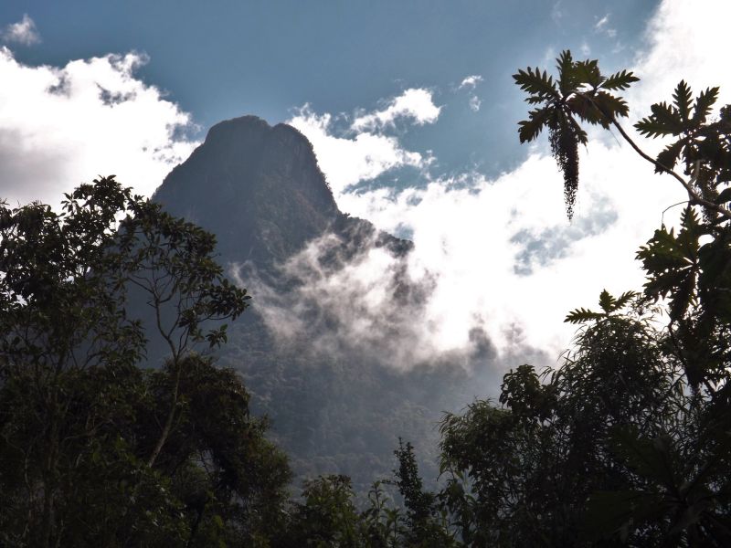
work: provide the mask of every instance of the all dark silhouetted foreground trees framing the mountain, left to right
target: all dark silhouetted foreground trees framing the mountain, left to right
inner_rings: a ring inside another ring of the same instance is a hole
[[[497,400],[441,417],[435,489],[406,438],[362,492],[344,474],[291,482],[242,376],[201,351],[252,301],[207,230],[113,175],[60,211],[3,205],[0,545],[731,545],[731,106],[681,81],[634,125],[668,142],[652,157],[621,125],[634,74],[556,62],[514,75],[518,135],[547,132],[568,219],[592,125],[687,202],[636,251],[643,288],[567,312],[558,366],[516,363]],[[164,366],[145,365],[153,347]]]

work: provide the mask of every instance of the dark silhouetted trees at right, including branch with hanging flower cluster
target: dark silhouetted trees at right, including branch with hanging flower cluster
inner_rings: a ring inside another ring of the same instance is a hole
[[[636,80],[630,73],[605,79],[596,61],[576,63],[568,52],[558,69],[557,81],[539,69],[515,75],[528,101],[544,104],[521,122],[521,142],[547,126],[573,184],[568,144],[585,137],[557,121],[611,124],[657,172],[683,184],[689,205],[677,232],[661,227],[638,252],[647,274],[642,294],[615,298],[605,290],[599,311],[567,315],[579,331],[561,367],[538,375],[522,365],[505,375],[500,406],[477,401],[445,417],[441,494],[451,526],[479,546],[726,546],[729,108],[709,121],[717,90],[693,101],[682,81],[672,105],[653,105],[636,125],[644,135],[677,139],[652,159],[616,121],[627,113],[624,102],[599,90],[625,89]],[[689,179],[673,172],[679,162]]]

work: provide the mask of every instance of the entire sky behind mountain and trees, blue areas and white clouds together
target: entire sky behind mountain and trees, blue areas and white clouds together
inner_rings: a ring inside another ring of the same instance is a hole
[[[590,132],[569,224],[546,141],[518,143],[526,105],[511,75],[552,68],[564,48],[599,58],[605,74],[635,70],[631,132],[680,79],[720,85],[731,101],[729,20],[728,0],[704,10],[694,0],[5,0],[0,196],[56,204],[111,173],[151,195],[217,121],[287,121],[313,142],[342,210],[413,239],[408,275],[432,290],[403,315],[400,347],[464,349],[479,328],[503,356],[557,356],[573,334],[568,310],[605,288],[641,288],[635,250],[684,196],[617,136]],[[661,145],[638,141],[649,153]],[[306,287],[367,311],[356,327],[377,330],[388,261],[372,254]],[[337,298],[343,287],[365,301]]]

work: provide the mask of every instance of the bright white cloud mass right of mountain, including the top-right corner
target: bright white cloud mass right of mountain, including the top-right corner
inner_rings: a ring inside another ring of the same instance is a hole
[[[719,0],[708,9],[714,17],[698,14],[690,0],[660,5],[648,27],[647,47],[633,67],[642,81],[628,95],[633,107],[628,129],[651,102],[669,99],[681,78],[696,90],[715,84],[731,90],[731,73],[718,71],[726,59],[717,47],[731,5]],[[399,148],[397,141],[391,145]],[[660,143],[642,146],[652,151]],[[333,183],[342,169],[331,156],[334,149],[317,142],[314,148]],[[581,152],[576,216],[568,225],[556,163],[541,149],[535,151],[495,180],[424,175],[412,188],[338,196],[344,211],[412,235],[409,276],[434,281],[418,322],[426,326],[422,342],[436,352],[469,344],[471,328],[480,325],[501,355],[528,346],[557,356],[574,332],[562,323],[567,311],[596,308],[605,288],[615,294],[641,288],[635,251],[659,226],[662,210],[684,198],[679,184],[653,174],[629,146],[604,135],[592,138]],[[665,221],[672,219],[666,214]],[[388,270],[381,265],[367,271],[379,269]],[[407,345],[412,344],[418,347],[413,341]]]

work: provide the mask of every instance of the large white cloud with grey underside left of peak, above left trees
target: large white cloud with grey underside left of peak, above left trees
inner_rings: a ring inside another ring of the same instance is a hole
[[[190,117],[135,78],[130,53],[29,66],[0,48],[0,198],[11,205],[61,194],[97,175],[150,195],[195,143],[176,137]]]

